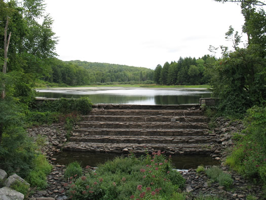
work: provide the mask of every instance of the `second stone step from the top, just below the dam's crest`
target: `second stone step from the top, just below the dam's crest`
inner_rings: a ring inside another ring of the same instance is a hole
[[[90,115],[145,115],[145,116],[203,116],[203,112],[197,110],[149,110],[149,109],[93,109]]]

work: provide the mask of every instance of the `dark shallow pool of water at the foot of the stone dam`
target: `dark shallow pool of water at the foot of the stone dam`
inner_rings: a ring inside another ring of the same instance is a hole
[[[67,165],[70,162],[78,161],[83,167],[86,165],[97,166],[99,163],[104,163],[107,160],[112,160],[117,156],[126,157],[127,154],[118,153],[99,153],[99,152],[85,152],[85,151],[63,151],[53,155],[57,160],[57,164]],[[136,155],[137,157],[140,155]],[[176,169],[188,170],[196,169],[199,165],[219,165],[220,162],[214,160],[209,155],[193,154],[193,155],[172,155],[172,164]]]

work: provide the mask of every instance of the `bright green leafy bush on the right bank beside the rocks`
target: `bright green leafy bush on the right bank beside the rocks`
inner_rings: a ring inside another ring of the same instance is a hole
[[[265,112],[265,107],[257,106],[247,111],[243,136],[236,138],[236,145],[226,159],[226,163],[244,177],[257,178],[263,184],[266,183]]]

